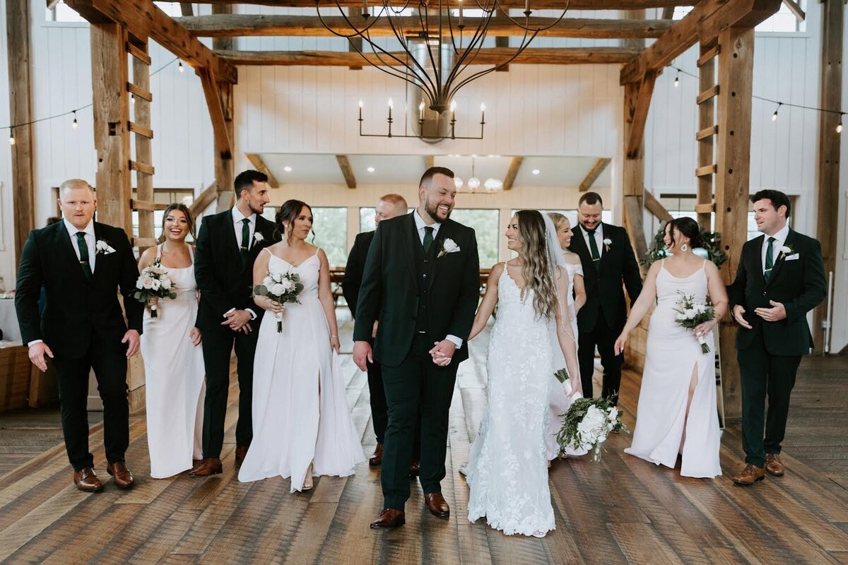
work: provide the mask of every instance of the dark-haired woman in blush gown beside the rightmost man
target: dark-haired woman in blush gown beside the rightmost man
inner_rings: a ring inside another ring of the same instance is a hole
[[[628,323],[616,340],[616,355],[622,352],[630,331],[648,312],[648,346],[645,352],[642,388],[633,445],[624,450],[657,465],[674,468],[682,456],[680,474],[712,479],[722,474],[718,463],[721,433],[716,407],[716,363],[714,347],[701,352],[697,337],[712,343],[712,328],[728,308],[728,295],[716,265],[692,252],[700,246],[700,229],[695,220],[672,220],[667,247],[672,257],[650,266],[644,289]],[[681,293],[696,303],[709,298],[715,319],[687,330],[675,321],[674,308]]]

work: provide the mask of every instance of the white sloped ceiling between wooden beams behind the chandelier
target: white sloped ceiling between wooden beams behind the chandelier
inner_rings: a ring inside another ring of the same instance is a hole
[[[265,166],[282,185],[343,185],[344,178],[336,156],[331,153],[261,153]],[[348,155],[358,184],[415,184],[425,169],[423,155]],[[519,169],[515,186],[579,186],[598,158],[595,157],[526,157]],[[503,180],[510,167],[509,155],[437,155],[434,163],[447,167],[463,180],[474,174],[481,180]],[[286,171],[291,167],[291,171]],[[369,172],[368,168],[373,168]],[[537,169],[538,174],[533,174]],[[608,188],[610,168],[600,174],[594,188]]]

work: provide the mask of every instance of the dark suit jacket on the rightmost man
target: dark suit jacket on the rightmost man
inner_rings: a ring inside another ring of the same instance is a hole
[[[812,347],[810,326],[806,313],[824,300],[827,285],[824,280],[822,246],[812,237],[789,230],[784,246],[792,253],[778,252],[772,276],[766,282],[762,274],[762,242],[760,235],[742,246],[742,258],[734,283],[728,287],[731,308],[737,304],[745,308],[745,320],[752,326],[748,330],[739,326],[736,333],[737,349],[747,349],[761,332],[766,350],[771,355],[806,355]],[[786,260],[797,253],[797,259]],[[754,313],[759,307],[770,308],[770,300],[783,303],[786,318],[767,322]]]

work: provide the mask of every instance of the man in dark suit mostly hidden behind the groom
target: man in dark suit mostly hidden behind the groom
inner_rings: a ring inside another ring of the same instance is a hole
[[[399,194],[387,194],[380,198],[377,202],[377,208],[374,212],[374,224],[380,225],[384,219],[392,219],[406,213],[407,203],[404,197]],[[354,246],[351,247],[348,255],[348,264],[344,268],[344,280],[342,281],[342,291],[344,299],[348,302],[350,313],[356,318],[356,302],[360,295],[360,285],[362,283],[362,273],[365,269],[365,258],[368,256],[368,248],[371,246],[371,241],[374,240],[373,231],[364,231],[356,236]],[[377,322],[374,322],[373,335],[377,335]],[[373,340],[371,340],[373,345]],[[368,460],[371,467],[377,467],[382,464],[382,442],[386,434],[386,425],[388,424],[388,412],[386,407],[386,391],[382,386],[382,369],[380,363],[368,362],[368,391],[371,396],[371,421],[374,424],[374,435],[377,436],[377,447],[374,449],[373,455]],[[421,455],[421,418],[418,418],[416,425],[416,435],[412,446],[412,463],[410,464],[410,474],[416,476],[420,469],[419,458]]]

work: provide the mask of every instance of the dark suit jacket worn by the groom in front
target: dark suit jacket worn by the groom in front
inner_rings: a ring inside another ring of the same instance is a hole
[[[468,358],[468,334],[480,297],[480,258],[474,230],[445,221],[433,245],[437,251],[451,239],[460,251],[436,258],[430,278],[428,335],[434,341],[455,335],[463,340],[451,366]],[[384,219],[377,227],[365,260],[365,274],[356,305],[354,341],[370,341],[374,320],[380,330],[375,359],[389,367],[403,362],[416,330],[419,291],[415,247],[420,246],[415,219],[406,214]]]

